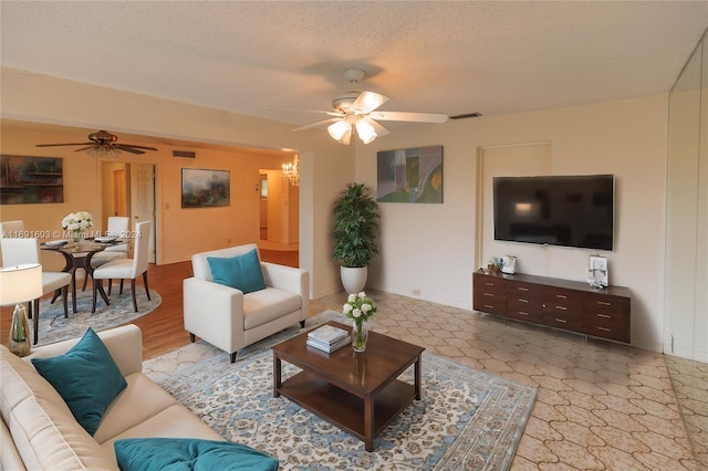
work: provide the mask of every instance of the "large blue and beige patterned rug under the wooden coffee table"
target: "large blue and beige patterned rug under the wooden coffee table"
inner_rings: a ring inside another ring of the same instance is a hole
[[[306,328],[330,320],[346,322],[326,312],[308,320]],[[337,427],[273,398],[270,347],[299,332],[288,329],[240,352],[233,365],[226,353],[197,343],[145,362],[144,370],[222,437],[277,457],[282,470],[509,469],[535,388],[424,353],[423,399],[366,452]],[[283,378],[298,371],[283,362]],[[413,368],[402,379],[413,383]]]

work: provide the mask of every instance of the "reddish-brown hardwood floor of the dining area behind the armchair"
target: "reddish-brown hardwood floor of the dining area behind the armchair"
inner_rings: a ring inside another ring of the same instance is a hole
[[[260,250],[263,261],[298,266],[296,251]],[[191,262],[179,262],[167,265],[150,264],[147,278],[150,290],[155,290],[163,297],[163,302],[155,311],[146,316],[133,321],[143,331],[143,358],[148,359],[189,343],[189,334],[183,322],[181,283],[191,276]],[[142,281],[138,281],[142,284]],[[142,286],[138,290],[143,290]],[[0,312],[0,338],[2,345],[8,345],[10,333],[11,307],[2,307]]]

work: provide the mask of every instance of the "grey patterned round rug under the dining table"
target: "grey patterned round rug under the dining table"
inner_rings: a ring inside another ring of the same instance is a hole
[[[50,304],[51,296],[43,299],[40,302],[40,335],[37,345],[52,344],[66,338],[81,337],[88,327],[93,327],[94,331],[98,332],[125,324],[152,313],[163,302],[160,295],[153,290],[150,290],[152,301],[147,301],[145,289],[138,285],[138,312],[135,312],[129,283],[123,289],[123,294],[118,294],[117,283],[114,284],[113,287],[113,292],[108,296],[111,305],[106,305],[106,303],[98,297],[98,300],[96,300],[96,312],[93,314],[91,313],[91,286],[86,289],[86,291],[77,289],[77,313],[72,312],[70,293],[69,318],[64,317],[64,305],[61,299],[56,300],[54,304]],[[30,320],[30,328],[32,328],[32,320]]]

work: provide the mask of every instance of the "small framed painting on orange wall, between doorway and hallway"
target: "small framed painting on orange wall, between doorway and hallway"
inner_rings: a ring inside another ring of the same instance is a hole
[[[181,169],[181,207],[215,208],[230,206],[229,170]]]

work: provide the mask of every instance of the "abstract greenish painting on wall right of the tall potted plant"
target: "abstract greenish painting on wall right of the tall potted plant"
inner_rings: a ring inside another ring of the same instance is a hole
[[[376,154],[376,201],[442,202],[442,146]]]

